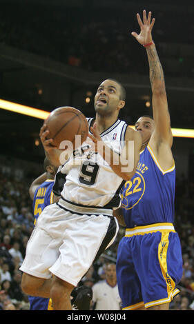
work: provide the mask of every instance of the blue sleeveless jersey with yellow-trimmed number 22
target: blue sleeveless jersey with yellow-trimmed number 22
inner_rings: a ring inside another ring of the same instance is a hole
[[[137,170],[121,190],[126,227],[173,223],[175,165],[162,170],[148,145],[139,157]]]

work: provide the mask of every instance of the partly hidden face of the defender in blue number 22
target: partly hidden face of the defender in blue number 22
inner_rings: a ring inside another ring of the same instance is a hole
[[[135,123],[135,130],[142,132],[143,141],[149,140],[154,131],[153,119],[148,117],[140,117]]]

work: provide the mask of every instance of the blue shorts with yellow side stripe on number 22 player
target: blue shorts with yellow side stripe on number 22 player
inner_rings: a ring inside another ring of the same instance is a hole
[[[117,250],[117,284],[123,310],[170,303],[180,292],[180,239],[171,223],[126,229]]]

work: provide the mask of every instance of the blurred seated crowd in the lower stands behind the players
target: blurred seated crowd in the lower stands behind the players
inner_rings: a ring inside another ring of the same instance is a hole
[[[28,189],[34,179],[17,178],[0,172],[0,310],[29,310],[28,296],[21,291],[21,265],[26,244],[34,227],[32,201]],[[182,243],[183,276],[171,310],[194,310],[194,183],[184,176],[177,179],[175,229]],[[105,278],[107,263],[115,263],[117,246],[124,235],[120,227],[115,243],[96,261],[81,284],[93,287]]]

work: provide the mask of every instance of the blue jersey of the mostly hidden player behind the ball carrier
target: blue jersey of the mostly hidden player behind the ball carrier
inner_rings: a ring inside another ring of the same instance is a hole
[[[33,211],[35,216],[35,222],[40,216],[43,209],[53,203],[54,194],[52,192],[52,187],[54,185],[54,180],[46,180],[43,182],[35,191],[35,196],[33,199]]]

